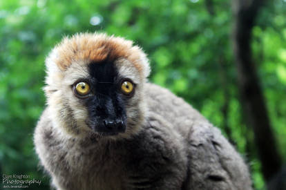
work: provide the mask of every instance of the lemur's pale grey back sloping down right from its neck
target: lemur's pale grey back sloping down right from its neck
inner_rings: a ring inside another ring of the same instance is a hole
[[[151,113],[161,115],[186,142],[186,189],[251,189],[247,166],[216,127],[169,90],[154,84],[146,89]]]

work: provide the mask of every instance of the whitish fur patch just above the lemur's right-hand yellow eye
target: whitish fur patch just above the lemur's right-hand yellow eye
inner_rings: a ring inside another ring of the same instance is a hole
[[[140,77],[140,73],[137,68],[131,64],[131,62],[126,59],[120,59],[116,61],[115,65],[120,76],[131,79],[135,84],[141,83],[142,79]]]

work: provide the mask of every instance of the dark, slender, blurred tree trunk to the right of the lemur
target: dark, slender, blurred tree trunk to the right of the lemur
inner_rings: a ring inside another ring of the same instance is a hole
[[[233,0],[233,51],[238,70],[238,85],[247,122],[254,130],[256,148],[265,180],[269,181],[281,167],[267,108],[254,61],[251,58],[251,30],[258,10],[265,0]]]

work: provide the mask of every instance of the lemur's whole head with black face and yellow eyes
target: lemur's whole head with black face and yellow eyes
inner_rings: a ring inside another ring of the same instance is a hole
[[[132,41],[99,33],[66,37],[48,55],[46,72],[50,119],[64,133],[113,138],[139,131],[150,68]]]

